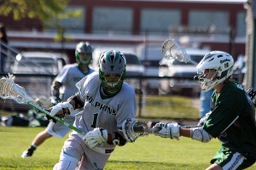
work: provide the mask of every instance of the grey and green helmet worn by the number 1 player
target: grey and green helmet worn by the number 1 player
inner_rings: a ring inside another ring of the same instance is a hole
[[[102,88],[108,94],[116,94],[122,88],[125,79],[125,55],[118,50],[109,50],[101,54],[99,59],[99,76]],[[104,74],[120,74],[117,82],[108,82]]]

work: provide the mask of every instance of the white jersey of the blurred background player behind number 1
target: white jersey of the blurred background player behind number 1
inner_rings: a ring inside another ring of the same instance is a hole
[[[66,101],[69,97],[73,96],[73,94],[77,93],[78,88],[76,87],[76,83],[93,71],[94,70],[89,68],[89,71],[84,74],[77,64],[65,65],[60,74],[55,77],[55,81],[61,82],[62,84],[62,101]]]

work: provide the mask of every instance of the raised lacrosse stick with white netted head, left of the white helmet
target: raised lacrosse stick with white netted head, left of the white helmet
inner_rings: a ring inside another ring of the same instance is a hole
[[[189,54],[187,54],[186,50],[174,40],[167,39],[166,42],[162,44],[162,54],[165,59],[177,59],[181,62],[192,63],[193,65],[197,65],[195,61],[190,59]]]

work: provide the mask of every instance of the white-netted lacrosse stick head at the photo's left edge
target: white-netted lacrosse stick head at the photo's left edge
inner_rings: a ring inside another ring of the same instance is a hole
[[[27,99],[24,88],[15,84],[15,77],[10,75],[8,77],[2,77],[0,79],[0,98],[2,99],[15,99],[18,103],[25,103],[24,99]]]

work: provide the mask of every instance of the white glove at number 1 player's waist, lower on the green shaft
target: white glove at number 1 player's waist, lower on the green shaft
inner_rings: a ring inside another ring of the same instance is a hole
[[[91,149],[97,144],[106,143],[108,140],[108,131],[103,128],[96,127],[92,131],[85,134],[84,143]]]

